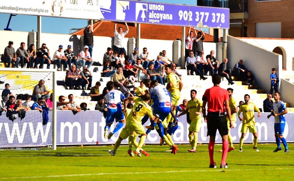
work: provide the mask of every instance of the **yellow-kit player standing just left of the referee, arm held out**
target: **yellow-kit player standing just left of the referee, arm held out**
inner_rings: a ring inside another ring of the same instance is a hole
[[[188,101],[185,111],[181,114],[178,114],[178,117],[190,113],[191,124],[188,128],[189,130],[189,142],[192,146],[192,149],[189,149],[189,152],[196,152],[196,146],[198,142],[198,133],[202,124],[202,116],[201,116],[201,106],[202,103],[200,100],[196,99],[197,91],[192,89],[190,91],[191,100]],[[194,136],[194,138],[193,138]]]

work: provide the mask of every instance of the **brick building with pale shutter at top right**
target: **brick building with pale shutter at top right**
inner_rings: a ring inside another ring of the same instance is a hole
[[[229,35],[294,38],[294,0],[230,0]]]

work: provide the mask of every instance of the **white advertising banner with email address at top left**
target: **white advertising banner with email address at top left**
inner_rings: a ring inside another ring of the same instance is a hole
[[[96,20],[101,16],[99,0],[1,1],[0,13]]]

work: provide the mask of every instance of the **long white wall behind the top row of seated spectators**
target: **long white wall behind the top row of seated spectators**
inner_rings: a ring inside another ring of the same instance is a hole
[[[25,42],[28,47],[28,32],[20,31],[0,31],[0,53],[4,52],[4,48],[8,45],[9,41],[14,41],[15,50],[20,47],[21,42]],[[63,45],[64,48],[67,45],[73,46],[74,54],[77,56],[79,51],[83,50],[83,45],[80,43],[80,35],[68,35],[68,34],[52,34],[52,33],[42,33],[41,43],[46,43],[50,50],[51,57],[55,50],[58,49],[59,45]],[[130,55],[133,51],[128,52],[127,48],[128,38],[123,42],[126,48],[127,54]],[[94,47],[93,47],[93,60],[102,63],[103,55],[108,47],[112,47],[113,38],[104,36],[94,36]],[[26,49],[27,49],[26,47]],[[140,39],[139,54],[143,52],[143,48],[146,47],[149,51],[149,58],[156,59],[156,56],[162,50],[166,50],[166,55],[172,59],[173,58],[173,40],[153,40],[153,39]],[[37,47],[39,48],[39,47]],[[181,47],[180,47],[181,48]],[[216,52],[216,43],[203,43],[204,55],[208,55],[211,50]],[[178,51],[177,51],[178,52]],[[176,61],[176,60],[175,60]]]

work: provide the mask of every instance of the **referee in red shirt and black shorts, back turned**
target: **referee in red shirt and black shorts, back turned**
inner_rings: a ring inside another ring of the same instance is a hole
[[[225,110],[227,116],[230,119],[230,127],[233,128],[233,122],[231,120],[231,111],[229,106],[229,93],[227,90],[220,88],[220,75],[213,74],[212,82],[213,87],[206,89],[203,94],[202,100],[202,113],[207,122],[207,136],[209,136],[208,152],[210,165],[209,168],[217,168],[216,163],[213,160],[213,148],[216,140],[216,130],[220,133],[223,140],[223,155],[220,164],[220,168],[228,168],[228,164],[225,162],[228,153],[228,122],[225,117]],[[207,116],[206,116],[206,103],[207,103]]]

